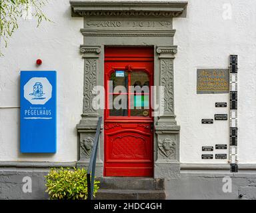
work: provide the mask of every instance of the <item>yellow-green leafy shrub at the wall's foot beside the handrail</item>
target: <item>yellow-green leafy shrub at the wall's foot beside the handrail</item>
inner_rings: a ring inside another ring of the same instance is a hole
[[[79,168],[51,168],[45,176],[46,192],[51,200],[85,200],[87,199],[87,171]],[[99,189],[99,181],[94,182],[93,196]]]

